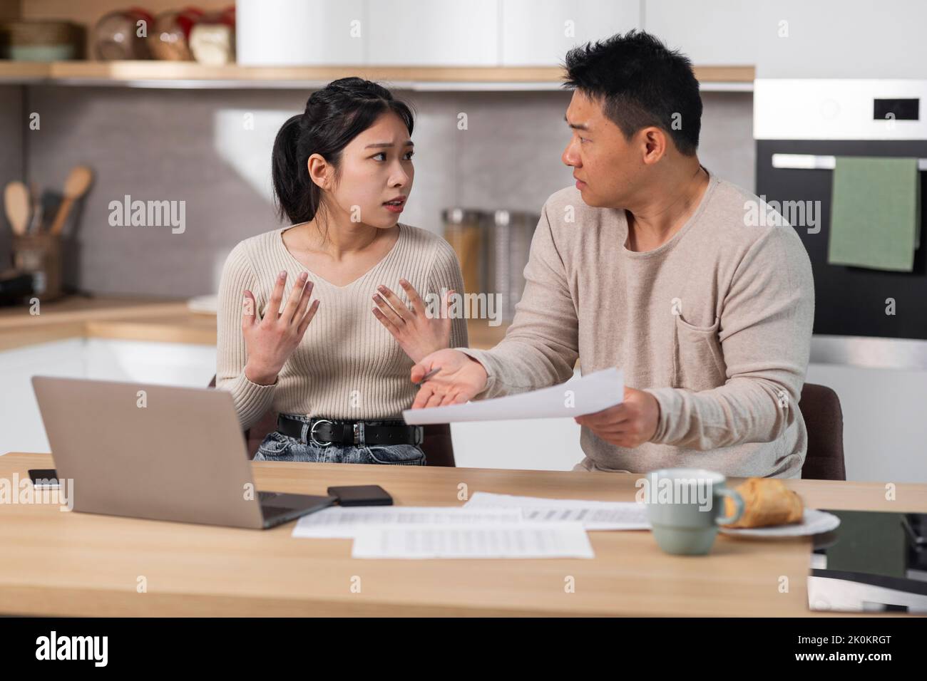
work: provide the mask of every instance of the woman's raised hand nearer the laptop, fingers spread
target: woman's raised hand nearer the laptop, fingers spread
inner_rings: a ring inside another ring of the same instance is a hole
[[[307,286],[309,275],[302,272],[286,307],[280,312],[280,303],[284,296],[286,284],[286,271],[277,276],[277,284],[273,287],[273,295],[267,304],[264,318],[258,321],[257,305],[254,294],[245,291],[244,309],[241,315],[241,331],[245,336],[248,362],[245,365],[245,376],[251,383],[259,385],[273,385],[277,374],[283,369],[286,360],[293,354],[299,345],[303,334],[309,327],[309,322],[319,309],[316,299],[309,307],[312,296],[312,284]],[[308,311],[307,311],[308,308]]]

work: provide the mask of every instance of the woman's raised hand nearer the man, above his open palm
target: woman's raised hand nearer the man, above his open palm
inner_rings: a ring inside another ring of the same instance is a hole
[[[425,314],[425,303],[413,285],[405,279],[400,279],[400,285],[406,296],[409,296],[412,309],[406,307],[400,297],[386,286],[380,285],[376,287],[380,293],[374,295],[376,307],[373,312],[376,319],[393,334],[393,338],[399,341],[403,351],[413,362],[418,362],[426,355],[451,345],[451,316],[448,308],[453,291],[441,296],[441,314],[435,319],[429,319]]]

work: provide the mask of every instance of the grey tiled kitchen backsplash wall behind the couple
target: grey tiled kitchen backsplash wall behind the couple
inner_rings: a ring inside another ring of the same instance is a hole
[[[270,201],[270,149],[298,90],[158,90],[31,86],[2,88],[4,182],[21,143],[29,180],[60,191],[70,168],[95,170],[80,212],[82,290],[97,294],[196,296],[215,292],[225,255],[252,234],[279,226]],[[10,96],[6,96],[6,95]],[[572,183],[560,156],[569,132],[566,92],[412,93],[415,183],[401,220],[440,233],[450,206],[538,212]],[[750,93],[704,93],[705,166],[753,190]],[[29,130],[29,114],[41,128]],[[458,129],[466,114],[467,129]],[[13,132],[16,120],[22,131]],[[253,121],[253,125],[251,124]],[[183,233],[170,226],[109,224],[111,201],[184,201]],[[8,228],[0,253],[8,260]]]

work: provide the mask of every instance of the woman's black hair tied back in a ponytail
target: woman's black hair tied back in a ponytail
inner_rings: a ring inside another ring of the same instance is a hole
[[[312,154],[319,154],[337,172],[345,146],[389,111],[411,135],[412,110],[375,82],[341,78],[312,93],[306,110],[286,120],[273,141],[273,194],[280,219],[308,222],[322,208],[322,189],[309,177]]]

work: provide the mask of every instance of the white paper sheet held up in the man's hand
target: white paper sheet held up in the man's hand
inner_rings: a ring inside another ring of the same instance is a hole
[[[504,419],[555,419],[602,411],[620,404],[624,396],[624,372],[611,367],[528,393],[477,399],[466,404],[404,410],[402,418],[410,425]]]

